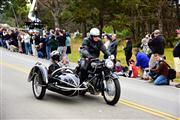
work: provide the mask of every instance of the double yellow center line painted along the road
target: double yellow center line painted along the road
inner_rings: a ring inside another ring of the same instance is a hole
[[[14,70],[17,70],[17,71],[20,71],[20,72],[23,72],[23,73],[26,73],[26,74],[28,74],[30,72],[29,69],[18,67],[18,66],[15,66],[13,64],[6,63],[4,61],[1,61],[0,65],[11,68],[11,69],[14,69]],[[155,116],[159,116],[159,117],[167,119],[167,120],[180,120],[180,118],[177,118],[177,117],[175,117],[175,116],[173,116],[171,114],[164,113],[164,112],[152,109],[152,108],[148,108],[148,107],[139,105],[137,103],[124,100],[124,99],[121,99],[119,103],[124,104],[126,106],[129,106],[131,108],[135,108],[135,109],[144,111],[146,113],[150,113],[150,114],[155,115]]]

